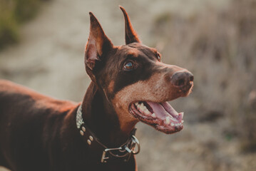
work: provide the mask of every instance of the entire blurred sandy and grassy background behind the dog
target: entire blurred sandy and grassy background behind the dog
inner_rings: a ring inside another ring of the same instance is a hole
[[[0,78],[81,101],[88,12],[121,45],[118,5],[164,63],[195,76],[193,93],[171,102],[185,112],[182,131],[138,124],[138,170],[256,170],[255,0],[0,0]]]

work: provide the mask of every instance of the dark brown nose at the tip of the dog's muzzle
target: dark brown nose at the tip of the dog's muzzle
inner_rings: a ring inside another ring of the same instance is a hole
[[[170,82],[175,87],[187,90],[192,86],[190,81],[193,81],[193,80],[194,80],[194,76],[189,71],[183,71],[183,72],[178,71],[173,73],[173,76],[171,77]]]

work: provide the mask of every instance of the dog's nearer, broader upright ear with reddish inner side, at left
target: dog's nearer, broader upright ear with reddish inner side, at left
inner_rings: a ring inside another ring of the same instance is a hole
[[[104,33],[101,24],[90,12],[90,35],[86,44],[85,63],[93,70],[96,61],[101,61],[101,56],[113,48],[113,43]]]

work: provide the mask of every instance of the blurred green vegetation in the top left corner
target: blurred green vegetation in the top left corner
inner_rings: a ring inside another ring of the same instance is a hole
[[[19,41],[19,26],[32,19],[43,0],[0,1],[0,49]]]

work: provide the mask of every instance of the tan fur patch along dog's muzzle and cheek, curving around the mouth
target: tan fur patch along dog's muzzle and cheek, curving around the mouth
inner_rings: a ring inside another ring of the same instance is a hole
[[[138,123],[129,112],[129,105],[137,101],[163,102],[175,97],[175,91],[165,80],[165,74],[155,73],[147,81],[138,81],[120,90],[112,100],[116,113],[118,114],[121,130],[128,131],[130,125]]]

